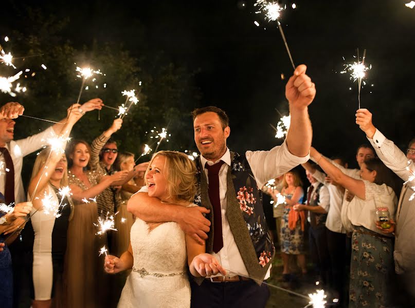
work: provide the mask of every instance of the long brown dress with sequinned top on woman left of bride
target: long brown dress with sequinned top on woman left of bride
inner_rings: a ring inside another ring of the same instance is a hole
[[[86,171],[91,186],[99,183],[103,176],[98,171]],[[82,190],[88,188],[68,170],[69,185],[75,184]],[[94,223],[98,221],[97,203],[74,200],[74,217],[69,222],[68,243],[65,257],[66,307],[101,307],[105,274],[105,255],[99,256],[100,248],[106,244],[106,236],[97,236]]]

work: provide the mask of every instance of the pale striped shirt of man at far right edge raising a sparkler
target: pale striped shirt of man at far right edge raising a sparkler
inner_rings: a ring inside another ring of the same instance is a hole
[[[405,182],[412,176],[411,172],[406,169],[415,170],[415,163],[410,161],[405,154],[390,140],[376,129],[373,139],[369,139],[377,156],[384,164],[395,172]],[[415,198],[409,200],[414,193],[415,180],[405,184],[401,191],[401,196],[396,210],[396,230],[395,230],[395,248],[393,258],[395,260],[395,272],[398,274],[415,271]]]

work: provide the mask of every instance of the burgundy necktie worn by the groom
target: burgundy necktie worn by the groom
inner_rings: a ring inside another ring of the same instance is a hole
[[[208,169],[209,180],[209,200],[213,207],[213,252],[219,252],[223,247],[222,238],[222,210],[221,199],[219,197],[219,170],[223,161],[209,166],[207,163],[205,168]]]

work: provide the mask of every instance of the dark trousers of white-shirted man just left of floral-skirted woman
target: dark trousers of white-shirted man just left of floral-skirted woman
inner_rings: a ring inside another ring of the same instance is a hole
[[[327,246],[330,256],[330,287],[338,293],[340,303],[347,294],[345,290],[346,276],[345,269],[350,265],[350,258],[346,259],[346,234],[330,231],[327,232]]]

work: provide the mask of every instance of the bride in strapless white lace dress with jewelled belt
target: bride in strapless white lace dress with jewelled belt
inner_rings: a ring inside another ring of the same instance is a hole
[[[157,152],[146,171],[150,197],[181,206],[196,206],[195,166],[184,154]],[[187,264],[186,264],[187,263]],[[119,258],[105,257],[104,269],[115,274],[132,269],[118,307],[190,307],[191,275],[206,277],[225,269],[201,245],[185,235],[175,222],[151,223],[136,219],[131,227],[130,247]]]

